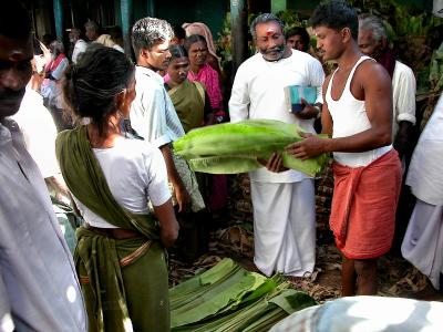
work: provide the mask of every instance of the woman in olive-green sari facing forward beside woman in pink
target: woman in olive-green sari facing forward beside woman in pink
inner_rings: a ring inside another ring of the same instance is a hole
[[[169,48],[171,60],[165,76],[165,89],[171,96],[185,133],[214,123],[213,108],[205,86],[189,81],[189,59],[182,45]]]

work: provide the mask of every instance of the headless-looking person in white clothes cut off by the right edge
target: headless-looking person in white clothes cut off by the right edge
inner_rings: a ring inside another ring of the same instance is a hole
[[[432,287],[443,281],[443,97],[424,127],[412,155],[406,185],[416,197],[401,247],[402,255]],[[442,292],[440,292],[442,293]]]

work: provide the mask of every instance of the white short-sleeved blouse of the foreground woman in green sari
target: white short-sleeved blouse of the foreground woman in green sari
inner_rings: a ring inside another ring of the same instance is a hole
[[[94,148],[95,157],[115,200],[133,214],[148,214],[148,200],[159,206],[171,198],[165,160],[145,141],[119,137],[111,148]],[[74,200],[84,220],[94,227],[117,228]]]

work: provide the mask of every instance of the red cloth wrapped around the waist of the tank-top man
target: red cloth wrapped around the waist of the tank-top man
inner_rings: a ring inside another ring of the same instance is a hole
[[[334,189],[329,225],[337,247],[349,259],[389,251],[401,187],[401,164],[392,149],[364,167],[333,165]]]

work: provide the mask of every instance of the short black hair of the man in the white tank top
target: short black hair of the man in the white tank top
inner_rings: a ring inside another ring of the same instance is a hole
[[[328,0],[321,2],[310,18],[312,28],[327,27],[334,30],[349,28],[352,38],[359,38],[359,18],[356,10],[343,0]]]

